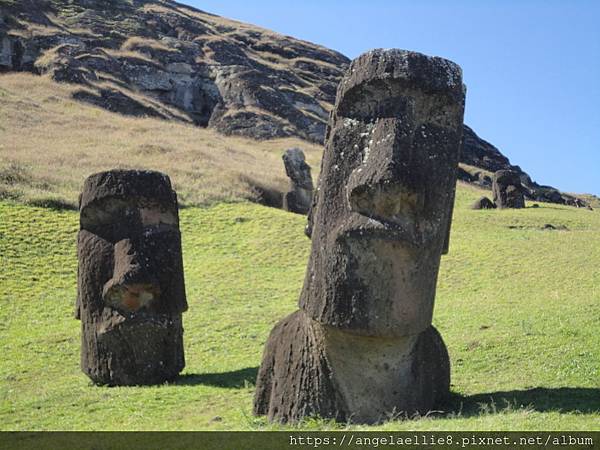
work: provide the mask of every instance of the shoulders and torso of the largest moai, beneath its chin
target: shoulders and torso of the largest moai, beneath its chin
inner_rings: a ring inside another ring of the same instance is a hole
[[[425,415],[449,391],[448,352],[433,326],[415,336],[369,337],[296,311],[269,336],[254,412],[272,422],[319,416],[372,424]]]

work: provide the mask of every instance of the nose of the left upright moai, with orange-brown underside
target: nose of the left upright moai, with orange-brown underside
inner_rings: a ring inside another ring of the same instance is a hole
[[[102,298],[108,306],[133,312],[151,308],[160,297],[151,258],[131,239],[115,244],[113,277],[104,285]]]

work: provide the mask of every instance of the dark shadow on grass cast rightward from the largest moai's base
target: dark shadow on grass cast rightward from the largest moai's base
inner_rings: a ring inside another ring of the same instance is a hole
[[[593,413],[600,412],[600,389],[537,387],[469,396],[452,394],[447,407],[451,412],[460,412],[462,417],[522,408],[538,412]]]

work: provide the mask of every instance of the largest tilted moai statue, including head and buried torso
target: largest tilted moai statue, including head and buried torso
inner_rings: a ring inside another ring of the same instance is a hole
[[[431,325],[462,138],[459,66],[402,50],[355,59],[330,116],[300,310],[271,332],[254,412],[374,423],[449,393]]]

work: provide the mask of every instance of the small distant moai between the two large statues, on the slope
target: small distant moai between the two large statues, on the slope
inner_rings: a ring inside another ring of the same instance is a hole
[[[310,166],[299,148],[289,148],[283,154],[285,173],[290,178],[290,191],[283,196],[283,209],[307,214],[312,201],[313,184]]]

